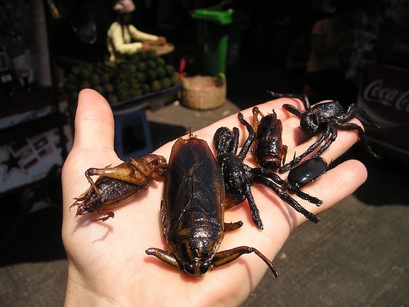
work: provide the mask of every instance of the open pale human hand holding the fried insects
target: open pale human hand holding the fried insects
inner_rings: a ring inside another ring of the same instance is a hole
[[[294,150],[303,152],[316,137],[308,139],[299,129],[300,120],[282,108],[290,103],[302,108],[296,99],[281,98],[260,104],[264,114],[275,109],[283,123],[283,143],[287,157]],[[243,112],[251,122],[252,108]],[[359,123],[358,120],[353,120]],[[240,129],[240,145],[247,136],[237,114],[206,128],[193,131],[214,151],[213,135],[220,126]],[[75,118],[75,140],[62,170],[63,224],[62,239],[68,257],[66,305],[145,305],[145,306],[216,306],[240,305],[256,288],[267,270],[255,254],[246,254],[201,279],[189,276],[145,253],[147,248],[167,250],[163,239],[160,202],[163,183],[152,182],[150,188],[135,200],[115,209],[115,218],[95,222],[98,215],[89,213],[75,217],[69,207],[89,183],[84,172],[89,167],[103,168],[122,163],[113,150],[113,116],[105,99],[93,90],[83,90],[78,98]],[[186,138],[186,136],[184,137]],[[335,160],[356,141],[356,133],[338,131],[335,142],[323,153],[327,161]],[[170,142],[154,151],[169,160]],[[244,162],[255,167],[251,155]],[[296,198],[302,206],[319,214],[350,195],[365,182],[367,171],[359,161],[349,160],[329,170],[303,191],[323,201],[316,207]],[[238,246],[258,249],[270,260],[282,248],[291,231],[307,219],[268,188],[255,184],[252,192],[264,223],[259,230],[253,223],[248,205],[241,204],[225,213],[225,222],[243,221],[244,225],[225,235],[219,251]],[[325,223],[322,220],[320,223]],[[274,263],[274,260],[272,260]],[[280,274],[286,274],[277,268]],[[271,275],[271,288],[275,278]]]

